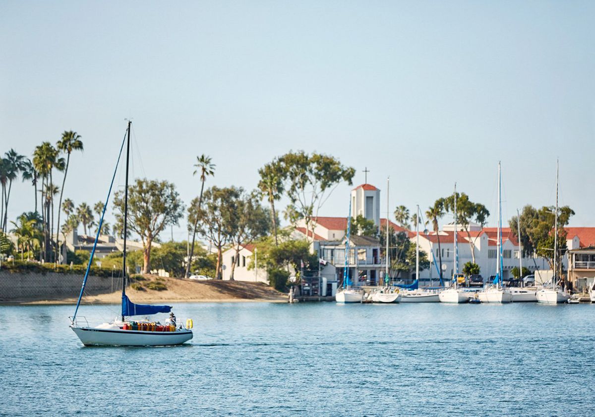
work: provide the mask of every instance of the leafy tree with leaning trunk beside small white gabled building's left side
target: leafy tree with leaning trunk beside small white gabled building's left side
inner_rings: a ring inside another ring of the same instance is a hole
[[[243,245],[248,245],[256,238],[268,234],[270,229],[270,214],[261,206],[256,192],[246,194],[243,189],[240,190],[233,213],[233,229],[230,236],[231,242],[236,248],[234,260],[239,259],[240,250]],[[236,271],[237,261],[231,264],[230,280],[233,281]]]

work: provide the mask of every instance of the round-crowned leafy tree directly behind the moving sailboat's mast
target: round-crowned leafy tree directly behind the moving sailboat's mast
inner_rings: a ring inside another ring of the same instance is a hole
[[[124,191],[114,195],[118,223],[124,222]],[[176,186],[167,181],[137,179],[128,188],[128,226],[143,242],[143,273],[151,270],[151,245],[169,225],[176,225],[184,205]]]

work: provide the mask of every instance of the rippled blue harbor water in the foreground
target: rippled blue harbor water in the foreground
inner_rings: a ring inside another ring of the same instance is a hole
[[[2,415],[592,415],[589,304],[177,304],[180,347],[83,347],[0,306]],[[90,321],[115,307],[83,306]]]

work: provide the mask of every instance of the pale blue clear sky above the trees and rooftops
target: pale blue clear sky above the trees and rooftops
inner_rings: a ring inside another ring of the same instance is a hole
[[[595,226],[594,28],[590,1],[0,1],[0,153],[75,130],[64,194],[93,204],[132,118],[133,175],[186,204],[196,155],[217,164],[207,186],[253,189],[259,167],[304,150],[355,167],[353,186],[367,167],[382,217],[390,176],[391,212],[456,182],[491,226],[498,161],[506,223],[555,204],[559,158],[571,225]],[[320,214],[347,216],[353,186]],[[10,217],[33,204],[15,183]]]

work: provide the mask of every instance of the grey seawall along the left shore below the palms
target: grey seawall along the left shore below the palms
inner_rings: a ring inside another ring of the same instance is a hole
[[[64,300],[79,297],[83,275],[70,273],[0,272],[0,303]],[[122,288],[120,278],[89,276],[85,294],[108,294]]]

